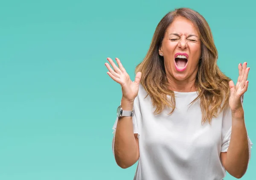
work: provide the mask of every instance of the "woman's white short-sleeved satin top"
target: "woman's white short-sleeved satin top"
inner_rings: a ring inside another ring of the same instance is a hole
[[[151,98],[145,98],[147,93],[140,84],[133,116],[140,149],[134,180],[222,180],[226,171],[220,153],[229,147],[231,112],[222,112],[212,118],[211,125],[202,125],[200,99],[189,105],[197,92],[175,94],[174,112],[168,115],[170,109],[166,108],[154,115]]]

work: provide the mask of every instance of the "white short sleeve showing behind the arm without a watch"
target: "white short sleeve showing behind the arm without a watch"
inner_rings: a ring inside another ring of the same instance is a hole
[[[243,98],[241,98],[241,102],[243,104]],[[232,113],[230,108],[228,110],[225,110],[223,113],[223,119],[222,119],[222,144],[221,144],[221,152],[227,152],[227,149],[230,144],[230,138],[231,138],[231,132],[232,132]],[[249,159],[250,159],[250,152],[251,148],[253,146],[252,141],[250,140],[249,136],[248,138],[248,146],[249,146]]]

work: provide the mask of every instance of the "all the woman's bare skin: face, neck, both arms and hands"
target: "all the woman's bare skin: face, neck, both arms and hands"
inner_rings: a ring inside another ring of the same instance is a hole
[[[187,53],[189,55],[186,70],[179,72],[175,69],[175,53]],[[159,54],[163,54],[166,76],[170,88],[179,92],[196,91],[195,78],[198,72],[198,62],[201,57],[201,41],[195,26],[184,17],[177,17],[166,31]],[[120,60],[116,58],[118,66],[111,58],[107,58],[113,69],[105,63],[108,75],[122,87],[123,110],[132,110],[134,99],[137,97],[141,73],[138,72],[135,81],[132,82]],[[247,170],[249,161],[249,147],[247,130],[244,122],[244,110],[241,104],[241,96],[248,88],[247,63],[239,64],[239,78],[236,85],[230,81],[229,106],[232,112],[232,132],[230,146],[227,152],[221,152],[220,158],[224,168],[232,176],[241,178]],[[114,151],[116,163],[122,168],[132,166],[140,157],[137,134],[133,133],[131,117],[122,117],[117,123],[114,137]]]

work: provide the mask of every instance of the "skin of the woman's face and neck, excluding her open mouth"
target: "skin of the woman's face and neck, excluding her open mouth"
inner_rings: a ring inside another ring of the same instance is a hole
[[[194,84],[201,57],[201,41],[193,23],[185,17],[175,18],[163,38],[161,53],[170,88],[179,92],[196,91]],[[189,55],[185,71],[175,69],[175,53]]]

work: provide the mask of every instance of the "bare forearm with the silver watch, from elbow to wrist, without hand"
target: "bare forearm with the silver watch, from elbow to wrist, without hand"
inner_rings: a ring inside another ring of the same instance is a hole
[[[122,99],[123,110],[133,110],[133,103]],[[137,140],[134,137],[132,117],[122,117],[118,120],[114,139],[116,163],[122,168],[132,166],[139,158]]]

